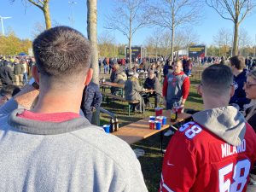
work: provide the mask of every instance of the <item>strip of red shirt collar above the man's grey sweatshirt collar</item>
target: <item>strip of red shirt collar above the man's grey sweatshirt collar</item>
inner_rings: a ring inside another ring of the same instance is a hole
[[[38,121],[49,122],[62,122],[74,118],[79,118],[78,113],[63,112],[63,113],[33,113],[31,111],[24,110],[23,113],[18,115],[20,118],[32,119]]]

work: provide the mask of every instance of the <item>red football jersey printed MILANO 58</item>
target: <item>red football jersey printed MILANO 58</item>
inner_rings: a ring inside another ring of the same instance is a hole
[[[180,127],[168,145],[159,191],[246,191],[248,174],[256,160],[255,148],[256,134],[248,124],[241,145],[235,147],[189,122]]]

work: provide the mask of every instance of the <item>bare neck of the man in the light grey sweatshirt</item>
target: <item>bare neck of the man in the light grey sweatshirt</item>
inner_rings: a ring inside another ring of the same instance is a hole
[[[74,90],[59,92],[48,90],[40,90],[38,103],[35,108],[32,108],[34,113],[61,113],[61,112],[73,112],[79,113],[82,92]]]

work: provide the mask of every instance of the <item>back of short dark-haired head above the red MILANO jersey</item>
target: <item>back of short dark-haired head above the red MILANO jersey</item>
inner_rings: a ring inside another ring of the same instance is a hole
[[[225,65],[212,65],[207,67],[201,75],[203,93],[207,96],[229,96],[233,74],[230,67]]]

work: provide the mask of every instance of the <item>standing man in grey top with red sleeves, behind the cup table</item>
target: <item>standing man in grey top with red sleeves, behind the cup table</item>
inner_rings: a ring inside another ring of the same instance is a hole
[[[166,109],[172,109],[174,102],[181,107],[189,96],[189,77],[182,71],[182,61],[174,63],[174,72],[168,73],[163,84],[163,97]],[[165,136],[173,134],[172,130],[166,131]]]

